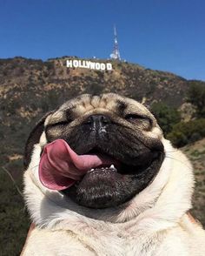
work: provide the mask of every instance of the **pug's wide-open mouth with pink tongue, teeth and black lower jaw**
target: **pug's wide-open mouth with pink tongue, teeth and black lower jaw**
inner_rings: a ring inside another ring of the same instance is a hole
[[[131,152],[104,144],[83,148],[74,151],[63,139],[46,145],[39,178],[76,204],[97,209],[122,205],[141,192],[155,178],[164,155],[161,144],[155,150],[141,145]]]

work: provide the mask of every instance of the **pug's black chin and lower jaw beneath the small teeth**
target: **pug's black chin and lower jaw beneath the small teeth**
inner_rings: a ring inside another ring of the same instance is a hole
[[[136,173],[131,172],[131,174],[120,173],[110,167],[96,168],[87,172],[81,181],[62,192],[76,204],[85,207],[94,209],[116,207],[133,199],[155,179],[162,160],[161,154],[149,167],[136,169]]]

